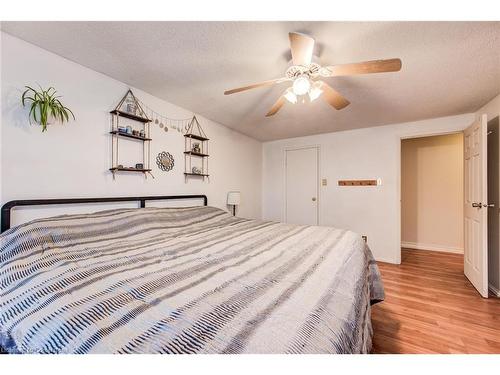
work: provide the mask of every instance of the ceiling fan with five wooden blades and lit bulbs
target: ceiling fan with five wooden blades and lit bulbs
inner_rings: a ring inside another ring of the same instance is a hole
[[[313,101],[323,94],[324,99],[335,109],[349,105],[349,101],[327,83],[318,78],[339,77],[354,74],[397,72],[401,69],[400,59],[373,60],[353,64],[324,66],[312,61],[314,39],[302,33],[289,33],[292,65],[287,69],[285,77],[255,83],[253,85],[227,90],[224,95],[230,95],[257,87],[271,86],[277,83],[293,81],[291,87],[278,98],[266,117],[275,115],[285,101],[297,103],[298,98],[309,98]]]

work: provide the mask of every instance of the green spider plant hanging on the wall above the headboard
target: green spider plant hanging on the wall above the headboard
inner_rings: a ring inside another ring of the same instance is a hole
[[[23,92],[21,101],[24,107],[31,102],[28,115],[30,124],[33,119],[42,126],[42,132],[47,130],[47,125],[56,121],[64,124],[64,122],[69,121],[70,116],[75,120],[75,115],[61,103],[60,96],[56,95],[57,92],[53,87],[49,87],[47,90],[40,87],[39,91],[29,86],[25,87],[26,91]]]

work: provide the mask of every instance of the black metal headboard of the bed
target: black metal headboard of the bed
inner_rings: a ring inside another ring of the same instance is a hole
[[[108,197],[108,198],[65,198],[65,199],[26,199],[5,203],[2,206],[2,228],[5,232],[10,228],[10,210],[17,206],[43,206],[58,204],[106,203],[106,202],[140,202],[141,208],[146,207],[146,201],[203,199],[203,205],[208,204],[206,195],[157,195],[149,197]]]

